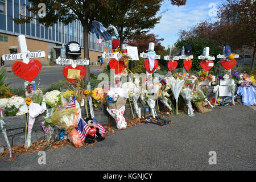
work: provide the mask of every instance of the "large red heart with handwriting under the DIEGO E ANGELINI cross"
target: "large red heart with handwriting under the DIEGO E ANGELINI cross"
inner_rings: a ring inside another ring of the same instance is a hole
[[[12,69],[16,76],[31,82],[40,73],[42,64],[38,60],[31,60],[28,64],[17,61]]]

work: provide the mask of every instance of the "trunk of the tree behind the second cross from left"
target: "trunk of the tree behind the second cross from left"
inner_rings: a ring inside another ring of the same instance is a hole
[[[84,23],[84,24],[82,24],[82,26],[84,27],[84,59],[89,59],[88,23]],[[86,74],[85,74],[84,80],[89,81],[90,80],[90,65],[85,65],[85,68],[86,68]]]

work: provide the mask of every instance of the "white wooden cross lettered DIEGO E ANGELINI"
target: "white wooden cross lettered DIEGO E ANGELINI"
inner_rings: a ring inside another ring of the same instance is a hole
[[[2,55],[2,59],[4,61],[22,59],[23,63],[28,64],[30,59],[34,59],[36,57],[46,57],[46,52],[44,52],[44,51],[40,51],[40,52],[28,51],[26,37],[24,35],[18,36],[18,42],[19,42],[20,53]]]

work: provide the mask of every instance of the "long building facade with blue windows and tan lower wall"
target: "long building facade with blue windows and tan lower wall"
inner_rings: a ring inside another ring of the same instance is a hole
[[[26,36],[27,48],[30,52],[45,51],[46,55],[51,55],[55,60],[60,56],[62,44],[75,41],[82,47],[81,57],[84,57],[83,27],[79,20],[69,23],[65,26],[61,22],[55,23],[52,27],[46,27],[40,24],[38,20],[30,23],[16,24],[13,18],[22,16],[31,16],[31,12],[26,9],[31,7],[28,0],[0,0],[0,53],[10,53],[10,48],[16,46],[19,52],[17,36],[23,34]],[[36,15],[38,16],[38,15]],[[90,63],[99,61],[101,54],[108,52],[109,44],[104,42],[103,46],[98,46],[95,34],[89,34],[89,57]],[[48,62],[47,57],[38,60]]]

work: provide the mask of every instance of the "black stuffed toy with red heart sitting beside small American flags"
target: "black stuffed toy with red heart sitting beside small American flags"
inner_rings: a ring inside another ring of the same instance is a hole
[[[100,129],[98,129],[98,127],[94,127],[94,122],[92,118],[85,118],[84,120],[90,127],[88,134],[85,138],[85,143],[94,143],[95,140],[100,142],[105,139],[105,137],[102,137]]]

